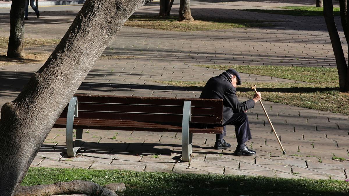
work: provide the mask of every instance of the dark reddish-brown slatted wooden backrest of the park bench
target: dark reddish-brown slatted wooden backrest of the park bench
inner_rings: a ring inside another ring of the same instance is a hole
[[[223,100],[75,94],[79,119],[182,123],[184,101],[191,101],[191,122],[222,124]],[[67,107],[60,115],[66,118]]]

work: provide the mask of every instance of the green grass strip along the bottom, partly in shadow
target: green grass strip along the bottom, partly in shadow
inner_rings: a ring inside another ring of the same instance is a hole
[[[23,186],[85,180],[126,184],[119,195],[347,195],[348,182],[262,176],[176,174],[119,170],[30,168]],[[295,188],[297,187],[297,188]]]

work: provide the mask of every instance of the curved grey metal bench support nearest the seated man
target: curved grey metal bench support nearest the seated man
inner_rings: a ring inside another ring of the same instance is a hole
[[[189,122],[191,120],[191,101],[184,101],[182,121],[182,160],[189,161],[192,153],[193,134],[189,133]]]

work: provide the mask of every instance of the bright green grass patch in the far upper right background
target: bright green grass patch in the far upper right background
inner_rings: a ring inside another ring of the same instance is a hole
[[[268,14],[283,14],[291,16],[323,16],[324,8],[322,7],[309,7],[309,6],[299,6],[299,7],[278,7],[282,9],[244,9],[248,12],[259,12]],[[286,10],[285,10],[286,9]],[[339,8],[333,8],[333,15],[339,16]]]

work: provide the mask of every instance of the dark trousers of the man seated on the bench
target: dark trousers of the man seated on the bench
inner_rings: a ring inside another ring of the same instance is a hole
[[[227,120],[225,123],[223,123],[223,134],[216,134],[216,140],[223,139],[225,135],[227,135],[227,131],[225,129],[226,125],[234,125],[235,126],[235,134],[236,134],[236,140],[238,144],[243,144],[247,142],[247,140],[251,140],[251,130],[250,126],[248,125],[248,118],[246,113],[235,113],[231,116],[229,120]]]

